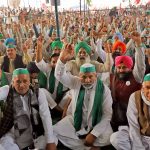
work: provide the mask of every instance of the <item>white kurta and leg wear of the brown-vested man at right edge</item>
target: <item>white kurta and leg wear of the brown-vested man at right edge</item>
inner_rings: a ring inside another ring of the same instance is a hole
[[[144,95],[142,99],[149,106],[150,114],[150,102],[146,100]],[[135,93],[130,96],[127,118],[129,122],[129,128],[120,127],[119,131],[111,136],[111,143],[117,150],[150,150],[150,137],[143,136],[140,133],[140,125],[138,122],[138,110],[135,103]]]

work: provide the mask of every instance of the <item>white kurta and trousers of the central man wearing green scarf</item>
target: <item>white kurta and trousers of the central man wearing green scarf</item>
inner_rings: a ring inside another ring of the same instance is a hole
[[[112,134],[112,129],[110,127],[110,119],[112,115],[112,97],[109,88],[104,86],[104,101],[102,104],[103,115],[101,121],[94,127],[92,127],[91,112],[94,103],[96,83],[91,89],[85,89],[81,130],[76,132],[73,118],[81,82],[78,77],[72,76],[70,73],[65,71],[65,65],[60,60],[58,60],[56,65],[55,76],[64,85],[72,89],[72,113],[54,126],[54,133],[58,139],[71,149],[81,150],[84,149],[85,146],[83,141],[79,139],[78,135],[83,135],[90,132],[97,137],[94,143],[95,146],[104,146],[110,144],[109,137]]]

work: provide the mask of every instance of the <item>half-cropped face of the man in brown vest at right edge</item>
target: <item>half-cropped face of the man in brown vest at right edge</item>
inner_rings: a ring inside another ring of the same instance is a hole
[[[142,92],[148,101],[150,101],[150,81],[144,81],[142,84]]]

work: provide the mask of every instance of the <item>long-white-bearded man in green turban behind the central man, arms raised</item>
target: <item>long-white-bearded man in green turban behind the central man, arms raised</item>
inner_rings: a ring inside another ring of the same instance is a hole
[[[107,53],[106,62],[104,64],[90,59],[91,48],[86,42],[80,42],[75,47],[75,60],[70,60],[66,64],[66,70],[72,75],[79,75],[80,66],[84,63],[91,63],[95,65],[96,72],[109,72],[110,71],[110,53]],[[74,56],[74,55],[73,55]],[[72,56],[72,57],[73,57]],[[72,59],[72,57],[70,59]]]

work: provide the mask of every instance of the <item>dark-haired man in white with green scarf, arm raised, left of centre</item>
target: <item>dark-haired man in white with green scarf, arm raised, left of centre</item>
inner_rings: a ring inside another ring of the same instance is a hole
[[[52,54],[50,57],[50,62],[46,63],[43,60],[42,55],[42,43],[41,41],[37,41],[37,49],[36,49],[36,66],[39,68],[41,72],[43,72],[46,75],[47,81],[46,81],[46,89],[51,94],[52,99],[57,103],[57,106],[59,106],[59,112],[61,116],[62,111],[64,108],[64,105],[66,103],[66,99],[63,97],[65,96],[66,92],[68,91],[68,88],[65,87],[61,82],[56,80],[54,76],[55,72],[55,66],[59,57],[59,54]],[[55,113],[56,115],[56,113]],[[52,117],[55,117],[55,115],[52,114]]]

